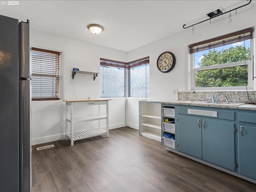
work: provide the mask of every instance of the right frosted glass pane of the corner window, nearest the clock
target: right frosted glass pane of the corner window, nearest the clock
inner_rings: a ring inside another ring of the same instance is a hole
[[[149,98],[149,64],[129,69],[129,96]]]

